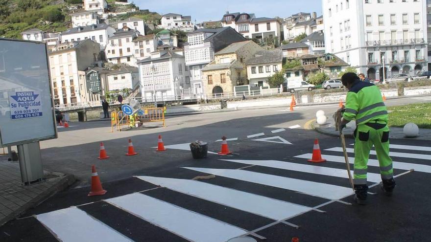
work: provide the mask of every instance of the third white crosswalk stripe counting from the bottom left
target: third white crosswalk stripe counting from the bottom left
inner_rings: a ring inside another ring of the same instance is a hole
[[[152,176],[137,177],[144,181],[151,182],[155,185],[166,187],[180,193],[216,202],[252,214],[257,214],[272,220],[283,220],[312,210],[310,207],[201,181]]]

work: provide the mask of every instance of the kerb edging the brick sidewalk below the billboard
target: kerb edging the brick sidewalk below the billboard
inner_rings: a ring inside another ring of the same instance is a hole
[[[10,214],[3,217],[0,220],[0,226],[5,224],[9,220],[13,220],[16,217],[20,216],[21,214],[24,214],[28,209],[36,207],[37,205],[41,204],[48,198],[54,196],[56,193],[65,190],[76,181],[76,178],[71,174],[62,174],[62,173],[53,172],[53,173],[46,174],[46,176],[57,176],[52,179],[58,179],[58,181],[52,184],[47,190],[37,195],[35,198],[32,198],[24,205],[20,206],[18,209],[12,211]],[[48,182],[48,181],[45,181],[45,182]]]

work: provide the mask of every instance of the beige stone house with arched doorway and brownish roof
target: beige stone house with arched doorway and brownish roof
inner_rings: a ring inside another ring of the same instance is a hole
[[[243,41],[216,52],[214,61],[202,69],[205,92],[221,94],[233,92],[235,86],[248,85],[245,60],[262,50],[253,41]]]

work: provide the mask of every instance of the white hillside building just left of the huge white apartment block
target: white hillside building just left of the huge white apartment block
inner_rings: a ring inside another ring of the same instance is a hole
[[[292,42],[295,37],[303,33],[310,35],[315,31],[323,30],[323,27],[323,16],[317,17],[315,12],[293,14],[283,22],[284,40]]]

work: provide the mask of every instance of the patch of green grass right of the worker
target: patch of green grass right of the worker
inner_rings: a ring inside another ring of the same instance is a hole
[[[431,129],[431,103],[389,107],[389,126],[404,127],[415,123],[419,128]]]

